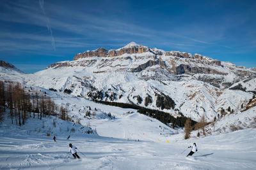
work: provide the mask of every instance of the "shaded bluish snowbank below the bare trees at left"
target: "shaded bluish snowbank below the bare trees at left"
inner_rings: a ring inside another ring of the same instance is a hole
[[[16,125],[15,120],[12,124],[10,119],[10,110],[7,110],[4,114],[4,121],[0,123],[0,134],[1,136],[47,136],[50,134],[51,139],[53,136],[58,138],[59,136],[68,137],[70,136],[92,136],[96,135],[97,132],[93,131],[92,128],[86,127],[86,125],[76,124],[74,122],[68,122],[61,120],[57,117],[43,117],[40,120],[37,117],[29,117],[26,120],[26,124],[19,126]]]

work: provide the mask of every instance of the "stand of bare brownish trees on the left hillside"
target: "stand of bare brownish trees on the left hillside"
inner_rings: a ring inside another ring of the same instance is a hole
[[[46,116],[68,120],[68,108],[58,106],[46,92],[38,92],[32,87],[22,87],[20,83],[0,81],[0,106],[3,111],[10,109],[12,124],[24,125],[28,117],[42,119]]]

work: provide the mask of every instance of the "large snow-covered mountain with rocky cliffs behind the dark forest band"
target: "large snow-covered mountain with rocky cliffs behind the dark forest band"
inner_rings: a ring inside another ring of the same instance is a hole
[[[137,104],[196,121],[202,115],[212,121],[228,107],[237,113],[256,92],[253,68],[134,42],[117,50],[78,53],[74,60],[51,64],[34,74],[17,74],[20,78],[13,79],[28,85],[98,101]]]

